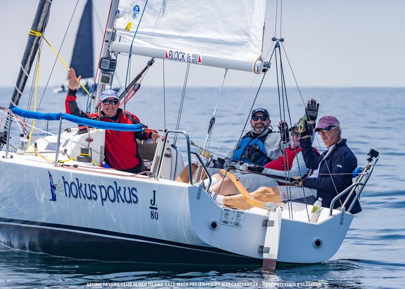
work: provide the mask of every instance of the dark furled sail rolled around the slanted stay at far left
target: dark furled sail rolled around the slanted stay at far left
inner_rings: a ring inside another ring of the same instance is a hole
[[[51,8],[52,0],[39,0],[36,9],[34,20],[32,21],[31,30],[43,33],[47,26],[49,11]],[[21,61],[20,72],[18,73],[16,85],[13,94],[11,95],[10,106],[18,106],[22,92],[24,91],[25,83],[27,82],[29,72],[31,71],[32,63],[34,62],[35,55],[38,51],[39,41],[41,37],[36,35],[28,35],[27,44],[25,45],[24,55]],[[10,112],[7,113],[6,121],[4,124],[4,131],[0,132],[0,149],[7,141],[7,132],[11,123]]]

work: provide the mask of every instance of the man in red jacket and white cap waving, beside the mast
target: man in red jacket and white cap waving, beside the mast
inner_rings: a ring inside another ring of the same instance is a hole
[[[106,89],[101,93],[100,97],[100,113],[85,113],[77,107],[76,103],[76,88],[80,83],[79,76],[76,78],[76,73],[73,68],[69,70],[68,81],[69,90],[66,95],[65,107],[66,113],[84,117],[88,119],[100,120],[105,122],[125,123],[125,124],[141,124],[140,120],[133,114],[123,111],[118,108],[119,98],[117,93],[112,89]],[[144,171],[143,160],[138,153],[138,143],[136,139],[151,138],[153,143],[156,143],[157,138],[165,139],[153,129],[142,131],[105,131],[105,163],[116,170],[140,173]]]

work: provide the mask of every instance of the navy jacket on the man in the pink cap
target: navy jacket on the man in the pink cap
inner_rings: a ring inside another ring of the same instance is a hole
[[[309,169],[316,170],[319,167],[319,174],[317,178],[306,178],[304,181],[305,187],[316,188],[317,198],[322,198],[322,207],[330,207],[333,198],[337,196],[336,190],[340,193],[352,182],[352,171],[357,167],[357,159],[346,145],[346,139],[342,139],[336,143],[330,154],[325,158],[324,156],[328,151],[323,152],[320,156],[317,156],[312,150],[311,138],[301,138],[300,144],[302,148],[302,155],[304,157],[305,165]],[[327,166],[328,165],[328,166]],[[329,174],[329,170],[332,174]],[[332,181],[333,179],[333,181]],[[336,189],[335,189],[335,186]],[[343,195],[340,200],[343,204],[348,193]],[[349,208],[354,194],[346,204],[346,210]],[[339,200],[335,202],[334,209],[341,206]],[[358,200],[353,206],[351,213],[356,214],[361,212],[360,203]]]

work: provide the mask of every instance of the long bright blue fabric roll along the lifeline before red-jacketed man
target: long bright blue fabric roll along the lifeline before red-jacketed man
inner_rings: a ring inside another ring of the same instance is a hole
[[[111,129],[119,131],[140,131],[144,127],[142,124],[124,124],[124,123],[114,123],[114,122],[105,122],[99,120],[92,120],[83,117],[74,116],[67,113],[41,113],[33,112],[28,110],[20,109],[16,106],[10,107],[11,111],[21,117],[25,118],[34,118],[41,120],[60,120],[66,119],[70,122],[74,122],[80,125],[87,125],[95,128],[101,129]]]

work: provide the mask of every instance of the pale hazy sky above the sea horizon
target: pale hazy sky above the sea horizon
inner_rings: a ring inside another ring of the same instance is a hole
[[[37,3],[36,0],[0,0],[0,86],[14,86],[16,82]],[[46,35],[57,50],[75,3],[74,0],[52,3]],[[84,6],[85,1],[79,1],[61,50],[60,55],[67,63],[70,63]],[[109,1],[94,0],[94,7],[95,58],[98,59]],[[274,36],[275,8],[276,1],[268,0],[263,54],[269,50]],[[284,0],[281,19],[281,36],[285,38],[284,47],[299,86],[405,87],[405,0]],[[40,86],[45,86],[54,60],[54,54],[44,47]],[[122,71],[118,74],[121,83],[125,82],[127,61],[118,66]],[[147,61],[144,57],[133,57],[132,74],[138,73]],[[182,86],[185,69],[183,63],[166,61],[166,85]],[[291,71],[285,71],[287,86],[294,86]],[[66,73],[66,68],[57,62],[50,85],[63,82]],[[223,73],[223,69],[192,65],[188,85],[220,86]],[[162,76],[162,61],[158,60],[142,84],[161,86]],[[254,78],[253,73],[229,71],[225,86],[249,86]],[[274,79],[269,77],[263,85],[274,86]]]

